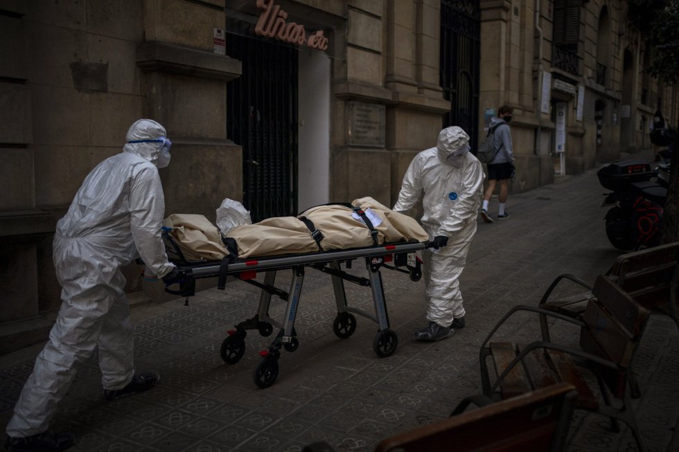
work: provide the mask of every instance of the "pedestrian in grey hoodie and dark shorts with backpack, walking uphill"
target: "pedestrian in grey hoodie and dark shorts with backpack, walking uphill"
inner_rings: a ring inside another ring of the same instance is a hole
[[[497,109],[497,118],[492,118],[488,128],[491,130],[486,141],[492,143],[495,157],[488,162],[488,187],[484,193],[481,217],[486,223],[492,223],[493,218],[488,214],[488,202],[491,201],[495,186],[500,189],[497,194],[499,206],[497,219],[509,218],[505,209],[509,196],[509,179],[514,177],[514,154],[511,145],[511,131],[509,121],[514,109],[509,105],[502,105]]]

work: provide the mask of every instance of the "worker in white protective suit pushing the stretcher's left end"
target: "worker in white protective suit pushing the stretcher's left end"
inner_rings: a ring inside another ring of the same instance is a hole
[[[48,431],[76,364],[99,350],[107,399],[150,389],[156,372],[135,374],[130,306],[121,266],[139,252],[166,285],[180,282],[161,238],[165,199],[158,168],[170,162],[171,142],[159,123],[140,119],[123,152],[92,170],[55,230],[53,261],[62,305],[49,341],[35,360],[7,425],[10,451],[63,451],[66,433]]]

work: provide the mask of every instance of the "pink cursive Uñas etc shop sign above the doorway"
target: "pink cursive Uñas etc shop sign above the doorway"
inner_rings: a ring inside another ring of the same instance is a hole
[[[256,35],[298,46],[317,48],[319,51],[328,49],[328,38],[324,36],[323,30],[318,30],[307,37],[304,25],[288,22],[288,13],[282,10],[281,6],[274,5],[274,0],[257,0],[257,8],[263,11],[255,26]]]

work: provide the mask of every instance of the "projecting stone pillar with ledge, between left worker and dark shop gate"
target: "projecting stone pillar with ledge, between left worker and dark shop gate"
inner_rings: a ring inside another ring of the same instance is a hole
[[[144,37],[136,49],[144,110],[173,141],[160,170],[166,215],[191,213],[216,222],[222,199],[242,200],[242,148],[227,137],[227,82],[241,64],[215,53],[213,29],[224,29],[224,0],[145,0]],[[175,26],[168,26],[175,24]],[[143,280],[154,301],[176,298]]]

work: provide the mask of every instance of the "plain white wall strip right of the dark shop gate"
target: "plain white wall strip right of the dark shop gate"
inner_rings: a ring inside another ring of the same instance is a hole
[[[330,58],[299,52],[299,212],[330,201]]]

